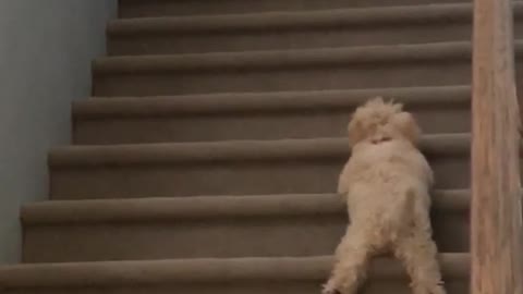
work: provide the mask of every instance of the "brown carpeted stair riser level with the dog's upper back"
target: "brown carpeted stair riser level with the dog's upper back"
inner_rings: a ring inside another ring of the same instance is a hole
[[[54,199],[333,193],[346,158],[51,167]],[[431,160],[440,188],[469,187],[469,155]]]

